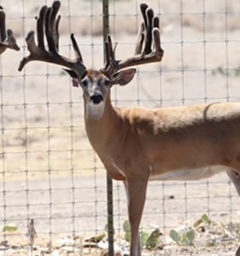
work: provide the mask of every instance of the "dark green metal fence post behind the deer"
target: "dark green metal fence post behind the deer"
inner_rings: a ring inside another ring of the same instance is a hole
[[[103,35],[104,41],[109,34],[108,0],[103,0]],[[114,256],[114,224],[112,204],[112,178],[107,174],[107,209],[108,209],[108,255]]]

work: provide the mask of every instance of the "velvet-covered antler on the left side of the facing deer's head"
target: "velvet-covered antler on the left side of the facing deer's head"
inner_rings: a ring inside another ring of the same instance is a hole
[[[59,8],[60,1],[54,1],[51,7],[47,8],[46,5],[43,5],[43,7],[40,9],[36,25],[38,46],[34,40],[34,32],[29,32],[26,37],[26,42],[27,49],[29,50],[30,54],[21,60],[19,71],[21,71],[23,67],[32,60],[40,60],[68,67],[79,78],[81,78],[86,71],[80,49],[77,46],[77,42],[73,34],[71,34],[71,41],[73,43],[73,49],[76,55],[75,60],[71,60],[58,54],[58,25],[60,15],[57,16],[57,14]],[[47,38],[48,50],[45,49],[44,34]]]

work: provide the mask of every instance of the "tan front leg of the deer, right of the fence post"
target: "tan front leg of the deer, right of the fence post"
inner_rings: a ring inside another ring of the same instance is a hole
[[[141,256],[139,226],[145,204],[147,179],[131,178],[124,182],[128,198],[128,218],[131,229],[130,256]]]

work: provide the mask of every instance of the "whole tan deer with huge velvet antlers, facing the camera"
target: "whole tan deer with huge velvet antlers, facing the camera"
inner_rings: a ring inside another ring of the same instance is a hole
[[[102,69],[86,69],[73,34],[76,59],[58,54],[57,17],[60,2],[43,6],[34,32],[27,35],[27,62],[41,60],[62,65],[82,87],[88,139],[112,178],[123,181],[128,197],[131,227],[130,255],[141,255],[139,224],[151,180],[196,180],[226,171],[240,193],[240,104],[215,103],[172,108],[115,108],[110,89],[132,80],[134,65],[159,62],[159,19],[147,4],[141,4],[143,23],[134,56],[116,60],[110,36],[105,43],[106,63]],[[45,48],[44,36],[48,49]]]

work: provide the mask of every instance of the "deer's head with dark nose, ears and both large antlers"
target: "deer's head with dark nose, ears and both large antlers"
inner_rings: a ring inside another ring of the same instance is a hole
[[[21,60],[19,71],[23,69],[27,62],[32,60],[67,67],[64,70],[71,75],[73,86],[80,85],[82,87],[85,106],[88,106],[89,109],[89,116],[99,118],[104,110],[104,102],[110,97],[110,88],[114,84],[128,84],[134,77],[136,69],[129,67],[162,60],[163,49],[160,47],[159,19],[154,16],[152,8],[142,3],[143,22],[136,41],[134,56],[125,60],[117,60],[115,58],[116,46],[112,47],[112,40],[108,35],[104,43],[104,67],[99,70],[92,70],[86,69],[84,66],[82,54],[73,34],[71,34],[71,41],[75,51],[75,60],[58,54],[60,15],[57,14],[59,8],[60,1],[54,1],[51,7],[47,8],[44,5],[40,9],[36,25],[38,45],[34,41],[34,32],[29,32],[26,42],[30,54]],[[45,48],[44,36],[47,39],[48,49]],[[93,115],[93,113],[97,114]]]

